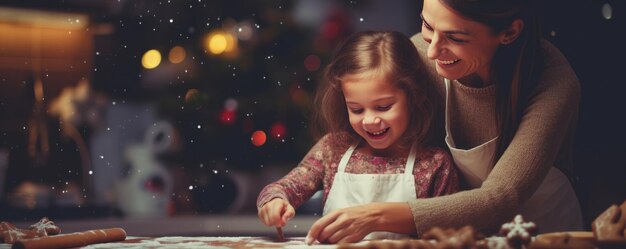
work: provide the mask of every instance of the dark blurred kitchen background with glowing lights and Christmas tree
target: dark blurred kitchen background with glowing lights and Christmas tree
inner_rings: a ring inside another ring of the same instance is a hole
[[[582,83],[586,224],[626,198],[624,1],[543,1]],[[256,214],[314,143],[311,100],[354,31],[420,29],[419,1],[4,0],[0,219]],[[319,196],[298,212],[319,215]]]

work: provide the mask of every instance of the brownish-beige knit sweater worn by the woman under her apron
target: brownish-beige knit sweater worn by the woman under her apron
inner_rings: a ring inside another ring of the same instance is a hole
[[[430,67],[433,84],[445,106],[444,80],[434,62],[426,58],[421,34],[411,40]],[[539,83],[524,110],[518,131],[480,188],[456,194],[409,202],[418,235],[434,226],[472,225],[494,232],[518,212],[555,166],[566,175],[572,168],[572,145],[580,101],[576,74],[560,51],[542,43],[545,65]],[[450,128],[457,146],[471,148],[497,136],[495,128],[495,88],[471,88],[451,84]],[[442,109],[443,110],[443,109]],[[440,110],[440,111],[442,111]],[[439,126],[444,124],[439,115]],[[443,129],[443,127],[439,127]]]

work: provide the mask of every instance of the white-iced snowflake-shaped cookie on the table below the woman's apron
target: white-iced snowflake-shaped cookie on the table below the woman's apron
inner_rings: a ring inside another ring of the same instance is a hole
[[[509,245],[514,248],[528,245],[536,231],[537,225],[533,222],[525,222],[520,214],[516,215],[513,221],[504,223],[500,227],[500,235],[505,236]]]

